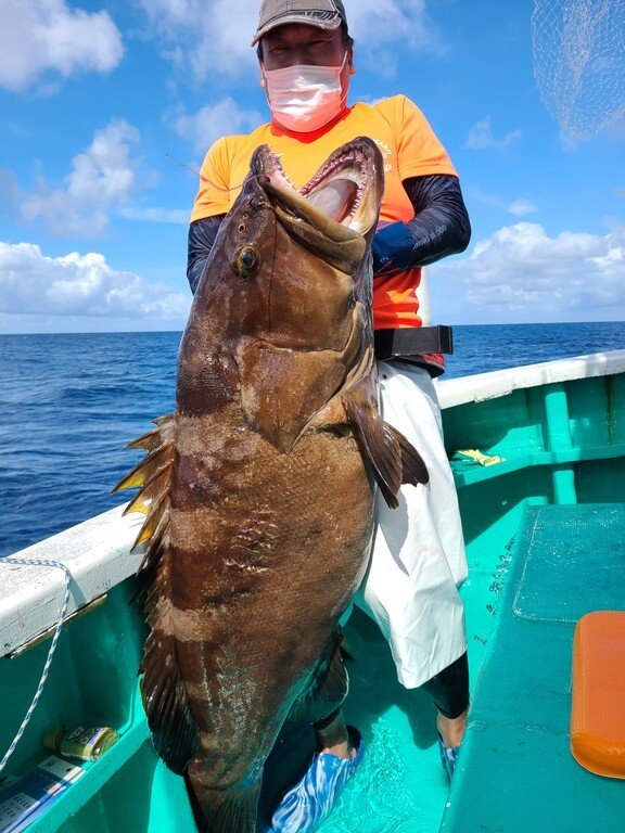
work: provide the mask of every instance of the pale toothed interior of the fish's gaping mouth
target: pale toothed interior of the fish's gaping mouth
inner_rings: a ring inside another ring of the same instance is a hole
[[[286,176],[280,158],[269,151],[265,157],[265,174],[282,193],[291,191],[304,197],[330,220],[363,233],[363,218],[358,216],[371,180],[371,158],[357,145],[346,152],[332,154],[304,188],[297,189]]]

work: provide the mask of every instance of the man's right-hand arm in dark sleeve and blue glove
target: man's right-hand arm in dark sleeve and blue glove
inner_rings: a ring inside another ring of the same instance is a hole
[[[428,266],[463,252],[471,223],[458,177],[434,174],[404,181],[414,208],[408,223],[393,222],[373,238],[373,274]]]

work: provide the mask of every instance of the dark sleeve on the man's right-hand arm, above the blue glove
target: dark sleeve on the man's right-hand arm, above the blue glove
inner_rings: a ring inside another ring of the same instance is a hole
[[[414,208],[407,223],[414,241],[410,266],[428,266],[447,255],[464,252],[471,223],[458,177],[434,174],[403,182]]]

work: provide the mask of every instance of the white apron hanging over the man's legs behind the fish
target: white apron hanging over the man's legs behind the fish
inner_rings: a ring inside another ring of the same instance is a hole
[[[373,553],[359,597],[388,641],[399,682],[414,689],[467,650],[458,594],[467,556],[432,379],[409,362],[380,361],[378,369],[382,415],[422,456],[430,483],[403,486],[395,510],[378,494]]]

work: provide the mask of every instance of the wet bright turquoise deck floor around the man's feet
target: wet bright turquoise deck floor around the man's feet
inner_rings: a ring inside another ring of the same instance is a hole
[[[463,588],[473,678],[493,626],[492,586],[487,571],[473,573]],[[345,632],[354,656],[345,713],[362,733],[367,756],[319,833],[435,833],[449,789],[438,758],[436,710],[424,692],[397,682],[386,641],[359,608]],[[311,754],[312,738],[305,734],[279,768],[293,772]]]

